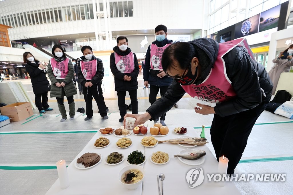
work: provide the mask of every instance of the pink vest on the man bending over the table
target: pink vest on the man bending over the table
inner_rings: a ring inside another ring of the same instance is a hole
[[[199,85],[182,85],[183,89],[195,99],[206,102],[220,103],[235,97],[236,93],[226,74],[223,56],[236,46],[245,47],[251,58],[255,60],[246,39],[236,39],[220,43],[217,60],[207,78]]]

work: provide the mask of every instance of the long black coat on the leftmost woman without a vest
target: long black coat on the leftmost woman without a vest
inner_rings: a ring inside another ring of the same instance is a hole
[[[47,71],[43,72],[38,67],[38,60],[36,60],[35,63],[28,61],[27,64],[25,64],[25,70],[30,75],[34,94],[41,94],[50,90],[49,81],[46,77]]]

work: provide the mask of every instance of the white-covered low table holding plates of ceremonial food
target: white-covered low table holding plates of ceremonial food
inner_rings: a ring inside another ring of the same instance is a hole
[[[183,135],[178,135],[173,132],[175,126],[169,126],[169,134],[166,136],[155,137],[157,140],[167,140],[178,138]],[[187,134],[184,136],[199,137],[193,127],[187,128]],[[149,127],[148,127],[149,129]],[[140,144],[141,139],[144,136],[137,136],[133,133],[130,136],[132,140],[132,146],[122,149],[116,147],[116,142],[119,137],[114,134],[103,135],[110,140],[110,145],[105,148],[94,148],[93,144],[96,139],[102,136],[98,131],[93,138],[87,143],[83,150],[74,158],[74,160],[67,167],[70,185],[67,189],[61,189],[59,179],[52,185],[46,194],[95,194],[95,195],[106,195],[106,194],[119,194],[119,195],[156,195],[158,192],[158,184],[156,175],[160,173],[165,174],[163,181],[164,194],[166,195],[187,195],[187,194],[241,194],[233,182],[226,182],[225,187],[220,187],[217,182],[208,182],[206,174],[217,174],[218,161],[214,158],[211,151],[207,146],[196,146],[190,149],[194,150],[205,150],[206,155],[204,156],[205,162],[202,165],[190,166],[186,165],[178,160],[178,157],[174,158],[173,155],[178,154],[181,150],[186,149],[178,144],[171,143],[160,143],[152,148],[145,148]],[[151,136],[149,130],[147,136]],[[210,142],[210,140],[207,140]],[[144,167],[146,172],[144,180],[140,186],[135,190],[126,189],[119,181],[118,174],[123,167],[127,166],[127,156],[132,151],[141,151],[147,158],[146,162],[141,165]],[[150,161],[150,155],[156,151],[162,151],[169,154],[170,161],[165,165],[156,165]],[[89,169],[80,170],[74,166],[77,158],[81,157],[84,153],[100,153],[102,155],[102,161]],[[119,152],[125,156],[122,163],[118,165],[107,165],[105,164],[105,158],[112,153]],[[56,159],[56,162],[61,159]],[[66,159],[64,159],[66,160]],[[190,188],[186,181],[186,173],[194,168],[201,167],[204,173],[204,181],[202,184],[195,188]],[[56,170],[57,171],[57,170]],[[161,186],[161,181],[160,186]]]

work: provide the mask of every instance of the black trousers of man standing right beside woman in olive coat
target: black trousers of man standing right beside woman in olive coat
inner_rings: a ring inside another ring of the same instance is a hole
[[[95,98],[99,113],[101,117],[107,115],[106,104],[103,97],[103,90],[97,85],[91,87],[83,87],[82,92],[84,93],[84,100],[86,101],[86,116],[93,117],[93,98]]]

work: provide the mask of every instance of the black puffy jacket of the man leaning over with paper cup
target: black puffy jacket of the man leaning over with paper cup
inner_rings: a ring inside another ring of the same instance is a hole
[[[197,52],[204,52],[209,58],[209,63],[203,64],[202,78],[200,80],[203,81],[207,78],[217,59],[219,44],[208,38],[200,38],[188,43],[192,44],[197,49]],[[269,102],[272,94],[270,77],[265,67],[252,60],[245,48],[237,46],[225,54],[223,59],[226,64],[227,76],[236,92],[236,98],[217,104],[214,107],[216,114],[225,117],[252,109],[262,102]],[[196,80],[195,83],[199,84],[201,82],[198,83]],[[152,119],[157,119],[170,110],[184,94],[185,91],[181,85],[173,80],[165,95],[151,105],[147,112],[149,112]]]

